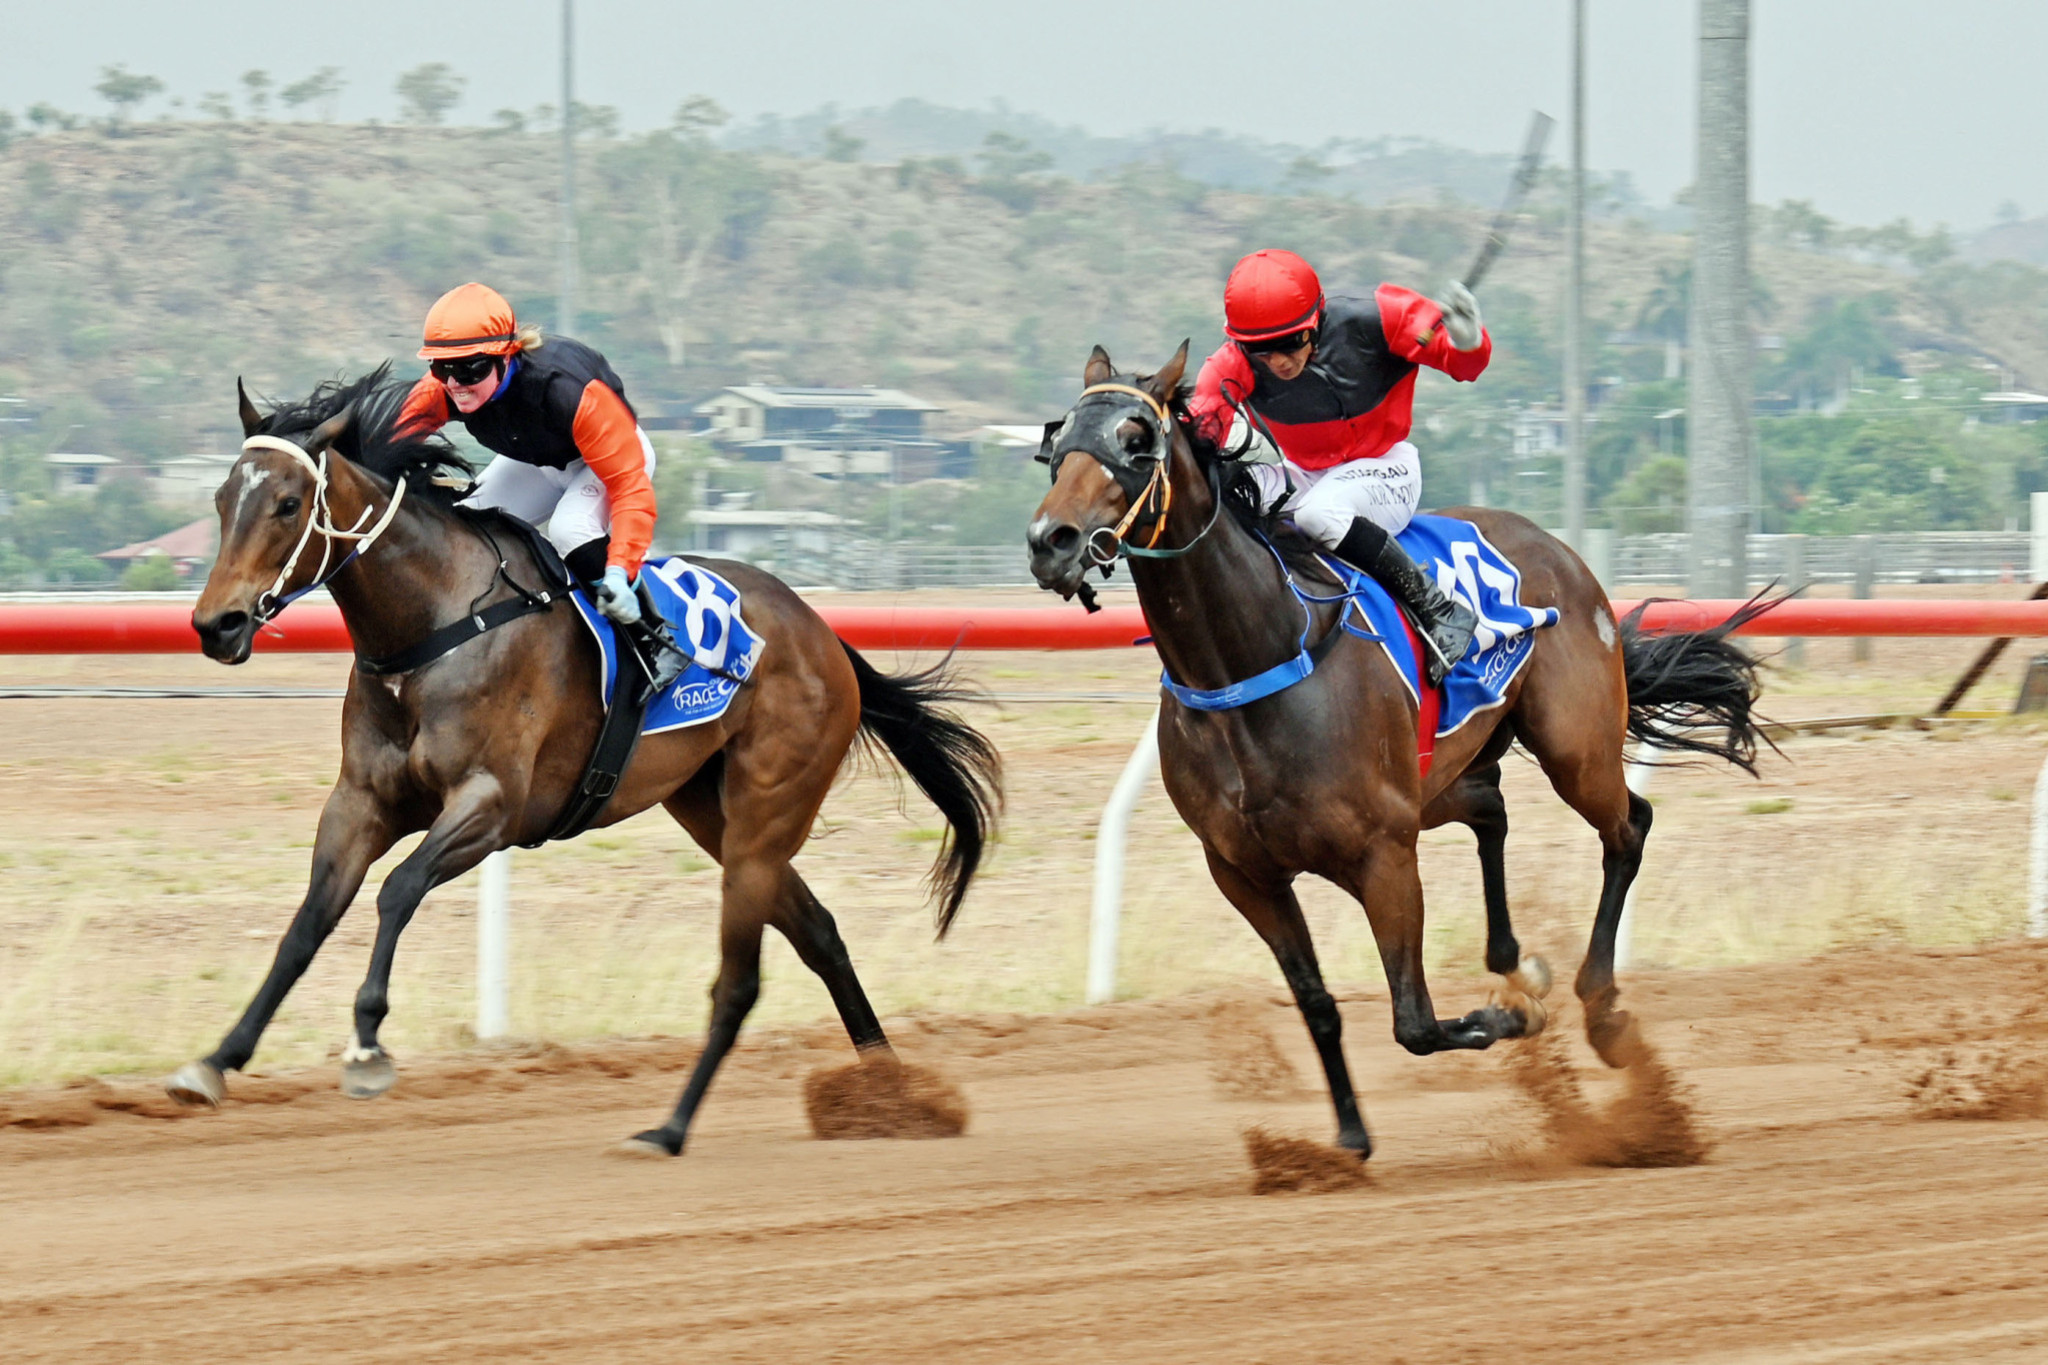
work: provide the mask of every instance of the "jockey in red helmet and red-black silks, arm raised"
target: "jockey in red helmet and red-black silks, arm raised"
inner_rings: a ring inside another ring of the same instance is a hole
[[[1421,501],[1421,465],[1409,444],[1415,366],[1473,381],[1493,356],[1479,303],[1452,282],[1444,303],[1397,284],[1370,299],[1323,297],[1292,252],[1253,252],[1223,287],[1229,340],[1202,362],[1192,411],[1210,440],[1249,424],[1282,463],[1251,465],[1266,505],[1401,600],[1427,641],[1430,684],[1473,643],[1477,618],[1446,593],[1395,536]]]

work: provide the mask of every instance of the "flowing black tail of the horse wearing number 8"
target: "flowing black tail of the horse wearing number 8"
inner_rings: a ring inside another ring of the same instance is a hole
[[[842,641],[844,645],[844,641]],[[891,677],[862,659],[852,645],[846,657],[860,679],[860,729],[879,739],[909,780],[946,817],[946,837],[932,864],[938,894],[938,935],[946,937],[961,913],[967,884],[981,866],[981,851],[995,833],[995,812],[1004,804],[1004,761],[981,731],[938,710],[944,702],[973,696],[952,681],[938,663],[922,673]]]

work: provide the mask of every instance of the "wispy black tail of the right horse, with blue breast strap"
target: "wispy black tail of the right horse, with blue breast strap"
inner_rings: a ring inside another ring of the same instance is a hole
[[[1706,753],[1757,772],[1757,741],[1772,743],[1755,716],[1757,661],[1729,636],[1792,596],[1765,598],[1767,591],[1706,630],[1645,634],[1642,612],[1663,598],[1642,602],[1622,620],[1630,735],[1665,751]]]

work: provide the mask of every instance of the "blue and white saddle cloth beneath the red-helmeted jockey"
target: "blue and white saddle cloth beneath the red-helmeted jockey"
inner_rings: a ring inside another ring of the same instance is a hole
[[[1448,516],[1417,516],[1395,536],[1401,548],[1436,573],[1438,585],[1479,616],[1473,647],[1444,675],[1444,704],[1436,733],[1450,735],[1473,716],[1505,700],[1507,684],[1536,649],[1536,630],[1554,626],[1554,606],[1522,606],[1522,573],[1493,548],[1477,526]],[[1401,608],[1372,577],[1352,565],[1323,559],[1343,579],[1352,604],[1343,628],[1374,639],[1393,659],[1401,679],[1421,698],[1421,667],[1401,620]]]

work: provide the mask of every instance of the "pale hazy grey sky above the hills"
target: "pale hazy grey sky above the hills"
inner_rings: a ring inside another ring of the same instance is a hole
[[[336,65],[342,119],[393,119],[397,74],[446,61],[469,82],[455,121],[485,123],[557,98],[559,14],[559,0],[0,0],[0,106],[98,111],[113,63],[186,104],[240,94],[250,68],[285,84]],[[575,82],[629,131],[688,94],[739,119],[918,96],[1104,135],[1511,151],[1532,108],[1569,113],[1569,14],[1571,0],[575,0]],[[1696,0],[1587,0],[1587,164],[1630,172],[1651,203],[1692,180],[1696,27]],[[2048,213],[2048,4],[1753,0],[1751,31],[1757,203],[1960,231],[2007,203]]]

